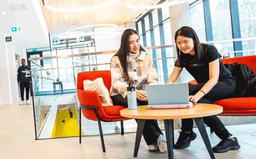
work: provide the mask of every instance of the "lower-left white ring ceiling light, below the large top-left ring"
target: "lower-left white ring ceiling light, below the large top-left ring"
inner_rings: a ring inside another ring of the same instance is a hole
[[[100,32],[94,32],[94,33],[84,33],[84,32],[71,32],[73,30],[81,29],[81,28],[88,28],[88,27],[98,27],[98,26],[112,26],[113,28],[105,30],[105,31],[100,31]],[[65,33],[59,34],[60,38],[75,38],[75,37],[80,37],[80,36],[88,36],[88,35],[94,35],[94,34],[102,34],[102,33],[107,33],[110,31],[113,31],[117,28],[117,25],[115,24],[94,24],[94,25],[88,25],[88,26],[82,26],[82,27],[77,27],[74,29],[70,29],[66,31]],[[65,36],[67,35],[67,36]]]

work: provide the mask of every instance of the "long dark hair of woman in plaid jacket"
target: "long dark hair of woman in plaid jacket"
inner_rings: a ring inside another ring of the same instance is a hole
[[[130,36],[133,34],[137,34],[139,37],[139,34],[133,30],[133,29],[126,29],[121,37],[121,45],[119,50],[116,52],[114,56],[117,56],[122,69],[123,69],[123,74],[124,77],[128,79],[128,83],[130,82],[130,78],[128,75],[128,62],[127,62],[127,56],[130,56],[129,48],[130,48]],[[140,39],[140,37],[139,37]],[[140,53],[141,51],[145,51],[142,46],[140,45]],[[110,65],[111,66],[111,65]]]

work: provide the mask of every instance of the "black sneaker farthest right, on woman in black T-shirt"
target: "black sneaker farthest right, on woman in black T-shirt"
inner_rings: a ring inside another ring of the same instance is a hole
[[[231,138],[222,139],[218,145],[213,147],[213,152],[223,153],[228,152],[229,150],[238,150],[240,145],[238,144],[237,138],[234,137],[234,139],[236,140]]]

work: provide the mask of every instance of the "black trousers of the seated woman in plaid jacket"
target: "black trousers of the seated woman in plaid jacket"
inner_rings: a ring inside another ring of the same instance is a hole
[[[124,106],[128,108],[127,98],[123,98],[120,94],[110,97],[114,106]],[[141,101],[137,99],[137,106],[149,105],[148,101]],[[138,119],[135,119],[138,123]],[[147,143],[151,145],[157,141],[159,135],[163,135],[163,132],[158,126],[157,120],[146,119],[142,135]]]

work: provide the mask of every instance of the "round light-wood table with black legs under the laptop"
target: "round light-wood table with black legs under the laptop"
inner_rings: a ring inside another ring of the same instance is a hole
[[[157,109],[148,110],[147,106],[138,106],[136,110],[128,108],[120,111],[120,115],[127,118],[138,119],[136,132],[134,157],[137,157],[141,142],[142,132],[146,119],[164,119],[165,133],[167,140],[168,158],[173,159],[174,137],[173,137],[173,119],[194,118],[198,130],[204,140],[205,146],[212,159],[215,159],[212,146],[207,135],[202,117],[217,115],[223,112],[223,108],[213,104],[194,104],[192,108],[184,109]]]

